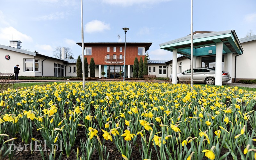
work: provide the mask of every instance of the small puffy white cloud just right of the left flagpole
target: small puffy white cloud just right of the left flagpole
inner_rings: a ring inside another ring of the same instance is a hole
[[[110,30],[110,25],[100,20],[92,20],[85,24],[85,32],[103,32],[104,30]]]

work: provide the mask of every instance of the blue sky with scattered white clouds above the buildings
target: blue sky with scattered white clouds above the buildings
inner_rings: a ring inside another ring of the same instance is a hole
[[[171,60],[159,44],[190,34],[190,0],[83,0],[84,42],[152,42],[151,60]],[[194,0],[193,31],[256,34],[255,0]],[[82,54],[80,0],[1,0],[0,44],[52,56],[57,46]]]

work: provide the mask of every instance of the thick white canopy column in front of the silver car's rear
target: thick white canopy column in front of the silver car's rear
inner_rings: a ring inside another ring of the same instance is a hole
[[[223,42],[216,43],[215,85],[222,85],[222,51]]]

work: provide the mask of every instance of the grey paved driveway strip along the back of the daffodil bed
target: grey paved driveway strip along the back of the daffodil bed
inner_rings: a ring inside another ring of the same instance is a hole
[[[85,82],[95,82],[95,81],[102,82],[102,81],[123,81],[123,80],[121,80],[121,79],[85,80]],[[133,81],[133,80],[125,80],[125,81]],[[139,82],[139,81],[143,81],[143,80],[134,80],[134,81]],[[11,82],[13,82],[13,83],[29,83],[29,82],[82,82],[82,80],[11,80]],[[163,81],[161,81],[161,82],[163,82]],[[0,83],[1,83],[1,80],[0,80]],[[256,88],[256,84],[222,83],[222,85]]]

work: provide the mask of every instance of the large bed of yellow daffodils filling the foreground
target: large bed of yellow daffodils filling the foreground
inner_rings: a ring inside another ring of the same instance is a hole
[[[46,146],[29,150],[38,159],[256,159],[256,92],[141,82],[82,86],[0,93],[0,157],[25,155],[13,147],[30,143]]]

